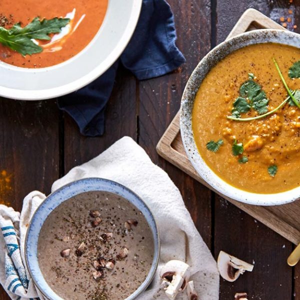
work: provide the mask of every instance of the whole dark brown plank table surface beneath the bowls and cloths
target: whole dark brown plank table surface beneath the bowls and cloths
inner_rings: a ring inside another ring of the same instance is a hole
[[[217,257],[225,250],[250,263],[233,283],[220,280],[220,299],[248,292],[249,299],[300,299],[300,265],[286,264],[293,245],[225,199],[160,158],[155,146],[176,114],[184,85],[197,62],[230,32],[249,7],[279,21],[288,10],[300,28],[300,0],[168,0],[177,29],[177,45],[186,57],[178,70],[138,81],[122,66],[106,109],[105,134],[83,137],[75,122],[58,110],[55,99],[17,101],[0,98],[0,203],[20,210],[23,197],[51,183],[110,146],[131,136],[162,167],[182,193],[197,229]],[[287,24],[289,25],[289,24]],[[0,289],[0,299],[8,296]],[[209,300],[209,299],[201,299]]]

